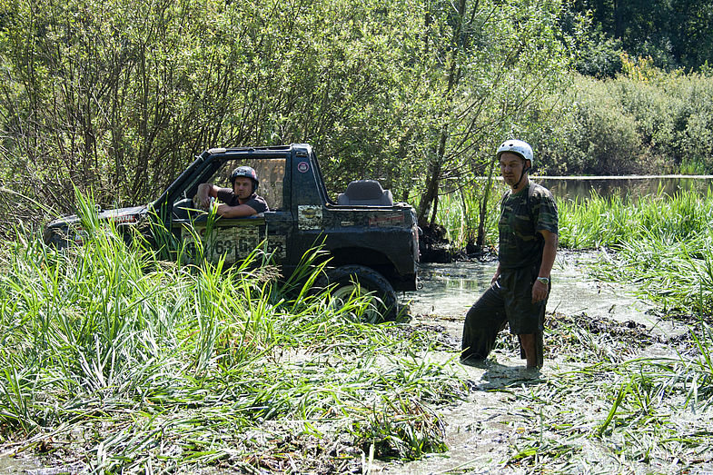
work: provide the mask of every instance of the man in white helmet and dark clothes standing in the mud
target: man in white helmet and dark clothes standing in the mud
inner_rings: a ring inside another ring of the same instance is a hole
[[[541,368],[545,305],[557,254],[557,204],[550,191],[530,182],[530,144],[508,140],[498,148],[497,158],[510,186],[500,201],[498,270],[466,314],[460,361],[487,358],[498,332],[509,323],[510,333],[520,338],[527,368]]]

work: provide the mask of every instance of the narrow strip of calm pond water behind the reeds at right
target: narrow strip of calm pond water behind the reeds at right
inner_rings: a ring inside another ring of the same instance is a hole
[[[586,200],[594,193],[622,198],[682,191],[704,194],[713,185],[713,175],[538,176],[533,181],[558,198]]]

